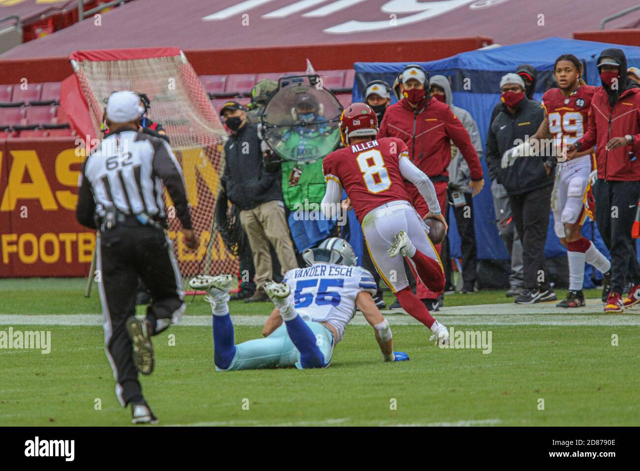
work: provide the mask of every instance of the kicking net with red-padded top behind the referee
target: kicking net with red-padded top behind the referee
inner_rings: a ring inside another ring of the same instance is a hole
[[[183,280],[197,274],[236,273],[237,260],[213,225],[226,133],[184,53],[176,47],[106,49],[76,51],[70,60],[91,119],[90,129],[85,125],[83,130],[92,138],[102,138],[106,99],[118,90],[147,94],[148,119],[159,122],[169,136],[184,174],[193,229],[200,236],[200,247],[189,251],[165,191],[168,235]],[[72,122],[77,120],[72,117]]]

